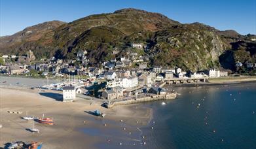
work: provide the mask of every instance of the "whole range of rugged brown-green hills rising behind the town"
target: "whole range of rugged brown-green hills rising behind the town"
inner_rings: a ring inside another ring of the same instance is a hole
[[[250,41],[253,37],[200,23],[180,24],[162,14],[126,8],[67,24],[52,21],[27,27],[0,37],[0,52],[20,55],[32,50],[37,59],[75,59],[77,52],[86,50],[89,65],[95,66],[111,58],[127,57],[134,51],[130,44],[141,43],[147,50],[139,51],[139,55],[150,56],[150,65],[191,71],[213,67],[234,70],[238,60],[255,61],[255,41]],[[113,55],[113,50],[119,54]]]

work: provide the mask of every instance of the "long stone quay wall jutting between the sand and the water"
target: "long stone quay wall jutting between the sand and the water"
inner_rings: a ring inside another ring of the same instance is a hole
[[[177,92],[172,91],[168,92],[166,94],[162,95],[156,95],[153,93],[145,93],[142,97],[130,97],[126,99],[119,99],[119,100],[114,100],[114,101],[109,101],[105,103],[106,108],[113,108],[114,106],[117,105],[131,105],[135,103],[145,103],[149,101],[158,101],[162,99],[175,99],[177,97]]]

